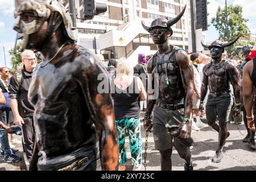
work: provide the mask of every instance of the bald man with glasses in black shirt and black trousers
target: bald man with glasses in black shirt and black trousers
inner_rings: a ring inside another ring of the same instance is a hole
[[[37,65],[35,53],[25,50],[22,53],[23,68],[11,77],[9,85],[9,97],[11,98],[11,110],[14,114],[15,125],[22,126],[23,150],[26,152],[28,161],[32,156],[34,146],[34,107],[27,98],[32,73]]]

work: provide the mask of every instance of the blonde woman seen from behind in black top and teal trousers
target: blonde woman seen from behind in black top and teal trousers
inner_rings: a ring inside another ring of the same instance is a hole
[[[119,165],[127,161],[125,148],[125,130],[129,133],[133,170],[142,167],[140,108],[138,100],[146,100],[146,92],[139,77],[133,76],[133,67],[127,60],[119,60],[116,76],[112,80],[115,126],[118,130]],[[119,169],[125,170],[125,166]]]

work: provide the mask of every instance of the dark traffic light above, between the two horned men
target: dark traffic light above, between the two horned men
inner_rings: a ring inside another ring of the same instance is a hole
[[[208,30],[208,13],[207,0],[196,0],[196,29],[202,28],[203,31]]]

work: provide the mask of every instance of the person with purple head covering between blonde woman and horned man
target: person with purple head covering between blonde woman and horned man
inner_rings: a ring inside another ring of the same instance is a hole
[[[145,67],[146,64],[146,56],[143,53],[138,54],[138,64],[133,68],[134,76],[138,76],[141,78],[145,90],[147,90],[147,70]],[[141,110],[145,110],[147,108],[147,101],[140,101],[139,105]]]

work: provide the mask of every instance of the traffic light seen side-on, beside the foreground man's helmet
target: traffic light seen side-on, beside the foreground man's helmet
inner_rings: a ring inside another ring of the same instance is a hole
[[[107,10],[107,5],[96,3],[95,0],[84,0],[84,19],[93,19],[94,15],[104,13]]]

